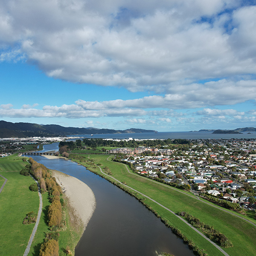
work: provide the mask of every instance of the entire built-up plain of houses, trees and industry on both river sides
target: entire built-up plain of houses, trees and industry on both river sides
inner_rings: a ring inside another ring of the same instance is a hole
[[[256,209],[256,139],[68,139],[1,139],[0,157],[60,142],[56,154],[113,154],[115,161],[128,164],[134,172],[149,179],[190,191],[242,214]],[[114,147],[119,145],[126,147]],[[224,205],[226,201],[235,204]]]

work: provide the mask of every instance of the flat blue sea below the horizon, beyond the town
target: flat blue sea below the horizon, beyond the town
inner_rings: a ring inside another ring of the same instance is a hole
[[[73,136],[70,136],[73,137]],[[173,132],[157,132],[157,133],[129,133],[129,134],[81,134],[76,137],[83,138],[102,138],[102,139],[256,139],[256,132],[243,132],[241,134],[212,134],[212,132],[199,132],[199,131],[173,131]],[[71,139],[76,140],[76,139]]]

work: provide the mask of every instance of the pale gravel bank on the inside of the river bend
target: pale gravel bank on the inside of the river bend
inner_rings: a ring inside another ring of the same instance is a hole
[[[72,212],[76,215],[76,219],[82,221],[85,230],[96,207],[93,191],[81,180],[70,175],[55,170],[52,170],[52,175],[63,189],[64,195],[69,198]]]

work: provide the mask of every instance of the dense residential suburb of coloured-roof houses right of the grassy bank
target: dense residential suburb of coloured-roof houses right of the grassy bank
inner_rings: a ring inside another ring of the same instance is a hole
[[[255,210],[256,140],[189,140],[171,148],[113,148],[109,154],[125,154],[138,174],[169,183],[195,195],[205,194],[239,203],[237,211]],[[186,146],[184,146],[186,145]],[[120,158],[119,158],[120,159]],[[212,197],[208,196],[212,201]]]

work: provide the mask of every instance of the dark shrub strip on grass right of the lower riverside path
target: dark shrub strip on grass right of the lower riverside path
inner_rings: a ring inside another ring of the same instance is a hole
[[[188,212],[178,212],[178,215],[186,218],[186,220],[189,221],[192,226],[202,230],[209,236],[209,239],[214,239],[221,245],[221,247],[228,248],[233,246],[232,242],[224,234],[220,233],[218,230],[215,230],[213,226],[201,222],[199,218],[194,217]]]

